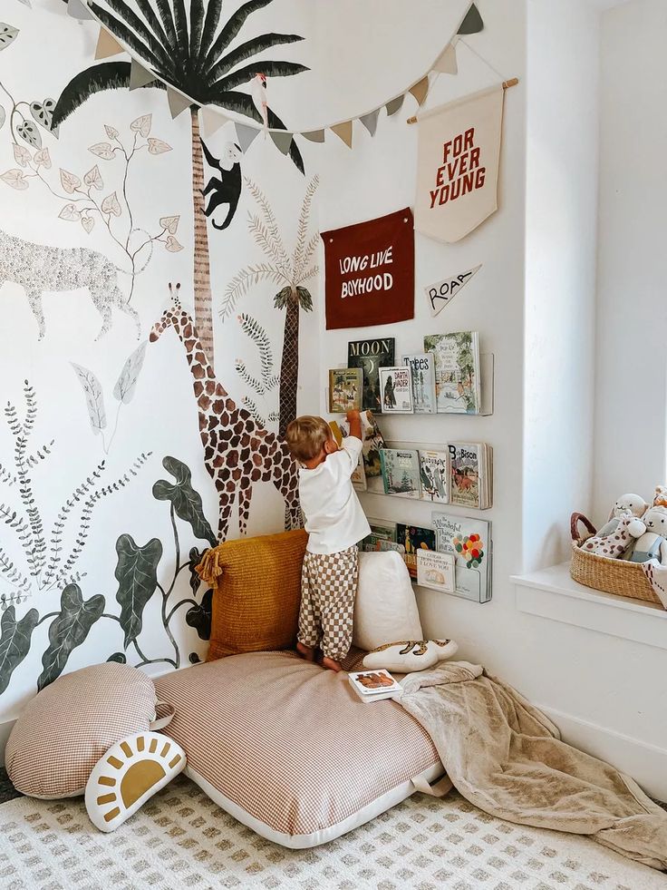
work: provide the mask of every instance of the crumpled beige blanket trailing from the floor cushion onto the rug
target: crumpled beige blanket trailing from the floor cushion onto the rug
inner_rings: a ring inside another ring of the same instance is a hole
[[[565,745],[516,690],[467,661],[440,662],[401,685],[397,700],[470,803],[509,822],[590,835],[667,870],[667,813],[632,778]]]

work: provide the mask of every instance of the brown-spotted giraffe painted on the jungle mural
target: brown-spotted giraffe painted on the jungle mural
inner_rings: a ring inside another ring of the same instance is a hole
[[[218,491],[219,540],[227,538],[237,495],[238,524],[241,534],[246,533],[253,485],[258,482],[272,482],[285,498],[285,528],[300,528],[302,517],[295,459],[284,439],[260,426],[218,383],[192,318],[180,305],[179,287],[177,284],[174,293],[169,285],[173,305],[153,326],[150,342],[154,343],[172,327],[185,347],[197,400],[204,465]]]

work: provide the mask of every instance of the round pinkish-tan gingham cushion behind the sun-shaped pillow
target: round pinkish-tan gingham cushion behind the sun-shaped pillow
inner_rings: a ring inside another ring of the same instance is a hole
[[[113,661],[54,680],[26,705],[5,749],[14,786],[31,797],[83,794],[92,768],[121,738],[149,729],[155,687]]]

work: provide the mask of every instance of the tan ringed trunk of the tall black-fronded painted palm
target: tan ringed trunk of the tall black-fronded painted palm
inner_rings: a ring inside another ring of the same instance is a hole
[[[208,364],[213,364],[213,309],[211,299],[211,269],[208,258],[208,230],[204,216],[204,158],[199,139],[198,108],[190,108],[192,122],[192,209],[195,221],[195,326],[201,345],[204,347]]]

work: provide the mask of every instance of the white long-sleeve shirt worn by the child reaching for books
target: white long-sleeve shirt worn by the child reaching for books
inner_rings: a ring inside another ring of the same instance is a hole
[[[309,553],[340,553],[371,533],[350,478],[361,453],[362,440],[348,435],[343,447],[313,470],[300,468],[299,498],[310,535]]]

